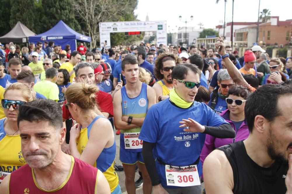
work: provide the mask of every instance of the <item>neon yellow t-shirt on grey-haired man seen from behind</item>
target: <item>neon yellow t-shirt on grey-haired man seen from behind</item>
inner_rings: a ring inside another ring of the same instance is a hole
[[[38,83],[34,84],[34,91],[44,95],[47,99],[52,99],[56,102],[59,100],[59,88],[57,84],[51,81],[39,81]]]

